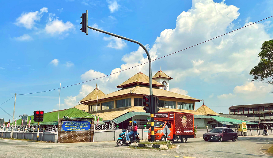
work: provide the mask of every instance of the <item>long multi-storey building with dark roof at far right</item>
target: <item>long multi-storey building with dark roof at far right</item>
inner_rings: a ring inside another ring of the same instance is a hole
[[[261,121],[273,120],[273,103],[235,105],[229,107],[230,115],[245,115]]]

